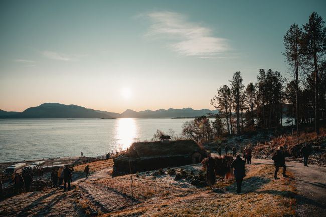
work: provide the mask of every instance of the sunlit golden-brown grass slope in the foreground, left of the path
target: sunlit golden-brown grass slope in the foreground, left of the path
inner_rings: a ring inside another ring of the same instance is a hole
[[[156,179],[140,174],[139,180],[147,186],[155,183],[156,191],[169,189],[169,196],[155,193],[153,198],[133,210],[123,210],[104,216],[294,216],[297,191],[293,173],[289,178],[274,180],[274,166],[247,165],[247,176],[243,181],[242,194],[236,194],[234,181],[221,183],[214,187],[224,187],[225,193],[214,193],[209,188],[185,187],[178,181],[171,181],[169,176]],[[123,176],[116,180],[121,184]],[[113,178],[112,181],[116,179]],[[136,180],[137,182],[137,180]],[[161,186],[162,185],[164,186]],[[168,186],[165,184],[168,183]],[[183,193],[181,193],[183,192]]]

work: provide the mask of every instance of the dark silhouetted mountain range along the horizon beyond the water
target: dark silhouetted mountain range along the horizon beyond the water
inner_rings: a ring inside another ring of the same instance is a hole
[[[156,111],[145,110],[136,112],[127,109],[121,114],[115,112],[88,109],[77,105],[64,105],[59,103],[44,103],[31,107],[23,112],[7,112],[0,110],[0,118],[173,118],[173,117],[198,117],[207,113],[218,113],[218,110],[192,108]]]

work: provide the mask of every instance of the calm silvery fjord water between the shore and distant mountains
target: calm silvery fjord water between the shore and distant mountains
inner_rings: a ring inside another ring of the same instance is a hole
[[[86,156],[126,149],[150,140],[157,129],[181,133],[192,119],[8,119],[0,121],[0,162]]]

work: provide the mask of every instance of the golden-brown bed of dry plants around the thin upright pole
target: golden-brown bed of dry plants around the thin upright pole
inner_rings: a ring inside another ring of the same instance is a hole
[[[105,179],[100,180],[97,183],[105,185],[109,188],[112,188],[120,193],[126,194],[128,196],[131,195],[131,183],[129,181],[123,181],[123,180],[115,180],[115,179]],[[138,199],[140,201],[150,199],[160,193],[163,192],[157,192],[154,188],[151,188],[145,184],[136,183],[133,182],[133,198]]]

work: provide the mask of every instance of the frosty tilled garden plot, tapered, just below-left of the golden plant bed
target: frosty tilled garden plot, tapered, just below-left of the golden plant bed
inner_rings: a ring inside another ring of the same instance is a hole
[[[97,206],[103,213],[125,209],[139,201],[103,185],[93,182],[80,182],[79,189],[90,202]]]

